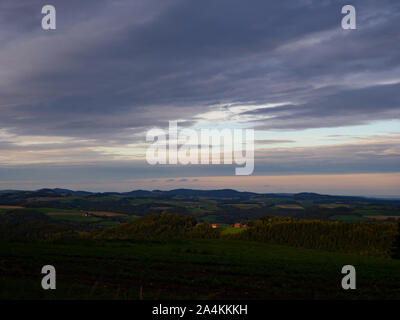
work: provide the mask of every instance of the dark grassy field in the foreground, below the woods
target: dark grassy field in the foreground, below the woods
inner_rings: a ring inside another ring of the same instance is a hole
[[[0,299],[400,299],[400,261],[227,240],[0,243]],[[41,267],[57,290],[40,289]],[[344,291],[344,265],[357,290]]]

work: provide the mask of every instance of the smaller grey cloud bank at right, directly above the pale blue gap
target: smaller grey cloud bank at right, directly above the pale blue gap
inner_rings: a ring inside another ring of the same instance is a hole
[[[265,116],[258,129],[307,129],[400,119],[400,85],[342,90],[309,103],[262,108],[243,114]]]

